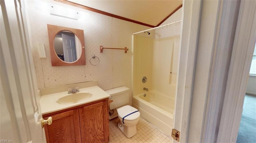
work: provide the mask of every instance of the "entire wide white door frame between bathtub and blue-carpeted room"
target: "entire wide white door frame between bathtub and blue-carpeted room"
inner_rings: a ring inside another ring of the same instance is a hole
[[[255,44],[255,9],[255,2],[246,0],[183,1],[174,114],[180,142],[236,142]],[[210,18],[204,17],[209,11]],[[212,23],[214,30],[204,32]]]

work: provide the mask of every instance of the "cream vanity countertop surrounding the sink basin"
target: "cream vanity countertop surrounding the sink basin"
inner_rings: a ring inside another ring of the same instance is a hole
[[[56,111],[60,111],[63,109],[71,108],[74,106],[79,106],[82,104],[94,102],[97,100],[101,100],[104,98],[109,98],[110,95],[102,90],[99,86],[91,86],[86,88],[79,89],[80,92],[89,92],[92,94],[91,98],[81,100],[80,102],[72,103],[72,104],[58,104],[57,101],[59,98],[68,95],[68,91],[58,92],[54,94],[43,95],[40,98],[40,106],[42,110],[42,114],[48,114]],[[78,92],[79,93],[79,92]]]

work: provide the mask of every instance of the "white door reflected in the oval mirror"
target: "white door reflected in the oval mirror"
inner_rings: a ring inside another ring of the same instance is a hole
[[[74,62],[76,61],[76,40],[75,37],[68,36],[65,34],[62,35],[62,45],[64,52],[64,61],[65,62]]]

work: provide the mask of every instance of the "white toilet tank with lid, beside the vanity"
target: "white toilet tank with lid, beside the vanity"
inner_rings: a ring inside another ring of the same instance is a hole
[[[105,92],[107,92],[112,97],[111,100],[113,100],[113,102],[109,104],[110,110],[129,103],[130,89],[125,86],[106,90]]]

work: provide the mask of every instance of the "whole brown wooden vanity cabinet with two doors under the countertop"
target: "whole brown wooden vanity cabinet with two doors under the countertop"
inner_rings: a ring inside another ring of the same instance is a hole
[[[52,117],[44,125],[47,143],[107,143],[109,140],[108,98],[43,115]]]

